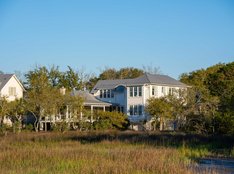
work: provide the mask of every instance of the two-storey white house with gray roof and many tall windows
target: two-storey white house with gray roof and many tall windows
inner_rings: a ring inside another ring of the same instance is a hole
[[[134,79],[99,80],[91,93],[101,101],[109,102],[128,115],[130,122],[149,121],[144,111],[147,100],[172,94],[187,85],[167,76],[144,74]]]

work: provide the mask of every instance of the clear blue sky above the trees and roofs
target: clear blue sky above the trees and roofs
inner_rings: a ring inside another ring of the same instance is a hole
[[[233,0],[0,0],[0,70],[183,72],[234,61]]]

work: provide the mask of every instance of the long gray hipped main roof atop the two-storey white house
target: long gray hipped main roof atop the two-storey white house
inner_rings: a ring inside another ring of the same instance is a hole
[[[114,89],[117,86],[131,86],[143,84],[158,84],[158,85],[171,85],[178,87],[187,87],[187,85],[167,76],[158,74],[144,74],[134,79],[117,79],[117,80],[99,80],[94,86],[92,93],[97,89]]]

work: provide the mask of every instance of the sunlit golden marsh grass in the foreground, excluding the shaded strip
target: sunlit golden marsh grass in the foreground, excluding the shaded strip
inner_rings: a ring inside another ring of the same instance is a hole
[[[97,136],[97,133],[72,132],[22,133],[0,137],[0,173],[190,174],[198,172],[194,164],[180,150],[172,147],[105,138],[87,141],[87,139],[77,139],[77,134],[83,138]]]

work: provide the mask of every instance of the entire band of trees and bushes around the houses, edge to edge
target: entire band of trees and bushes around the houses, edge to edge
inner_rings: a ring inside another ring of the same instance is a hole
[[[5,116],[10,116],[15,129],[20,129],[23,115],[27,113],[35,117],[33,127],[38,131],[38,123],[45,116],[52,119],[54,116],[65,118],[69,115],[70,119],[79,120],[79,114],[83,111],[87,118],[91,119],[90,113],[84,111],[83,99],[70,95],[73,89],[91,90],[98,80],[136,78],[145,72],[158,73],[159,71],[158,68],[150,66],[143,69],[106,68],[98,76],[94,76],[86,74],[83,70],[75,71],[70,66],[66,71],[60,71],[58,66],[35,67],[25,74],[24,99],[11,103],[7,103],[4,99],[0,100],[0,123],[2,124]],[[180,81],[189,85],[189,88],[174,91],[177,96],[180,96],[179,98],[168,95],[162,98],[151,98],[148,101],[146,111],[154,117],[154,129],[163,130],[166,120],[172,119],[177,123],[177,130],[207,134],[234,134],[234,62],[184,73]],[[62,87],[66,89],[66,95],[62,95]],[[81,121],[78,127],[80,129],[123,129],[128,125],[125,115],[95,114],[93,117],[98,118],[96,123],[87,125]],[[58,129],[63,130],[64,125],[60,124]]]

